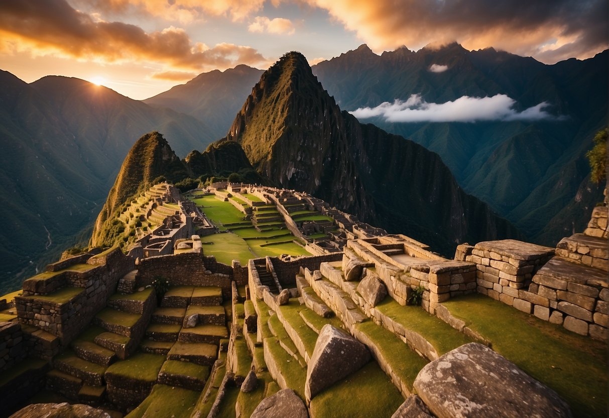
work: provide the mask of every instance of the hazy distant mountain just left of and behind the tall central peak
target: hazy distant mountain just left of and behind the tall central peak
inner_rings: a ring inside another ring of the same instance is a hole
[[[247,65],[225,71],[214,69],[150,97],[144,103],[199,118],[205,121],[212,138],[222,138],[262,73],[263,70]]]

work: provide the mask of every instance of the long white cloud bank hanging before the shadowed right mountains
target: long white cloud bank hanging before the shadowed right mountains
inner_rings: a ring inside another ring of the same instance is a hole
[[[420,94],[407,101],[396,99],[376,107],[361,107],[351,115],[357,119],[384,118],[387,122],[477,122],[477,121],[540,121],[562,119],[546,112],[549,103],[529,107],[522,112],[513,108],[516,101],[505,94],[492,97],[462,96],[445,103],[428,103]]]

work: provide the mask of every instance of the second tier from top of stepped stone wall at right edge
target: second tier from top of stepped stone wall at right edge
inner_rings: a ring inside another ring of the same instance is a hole
[[[556,255],[572,263],[609,271],[609,245],[605,238],[576,233],[560,240]]]

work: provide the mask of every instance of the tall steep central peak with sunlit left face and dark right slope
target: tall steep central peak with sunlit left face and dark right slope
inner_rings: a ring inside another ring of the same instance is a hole
[[[463,241],[521,236],[465,194],[437,154],[341,112],[297,52],[262,74],[227,138],[277,185],[444,253]]]

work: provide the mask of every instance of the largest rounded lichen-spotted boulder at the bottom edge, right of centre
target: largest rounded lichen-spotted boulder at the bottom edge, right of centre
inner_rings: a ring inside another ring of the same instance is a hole
[[[414,387],[438,418],[572,417],[556,392],[477,342],[427,364]]]

